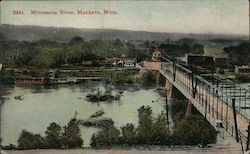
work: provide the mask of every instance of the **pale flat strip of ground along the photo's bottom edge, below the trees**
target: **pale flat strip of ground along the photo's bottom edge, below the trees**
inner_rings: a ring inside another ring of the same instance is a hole
[[[211,148],[165,148],[151,147],[151,149],[110,149],[110,150],[92,150],[92,149],[72,149],[72,150],[10,150],[7,154],[240,154],[242,153],[239,144],[218,145]]]

